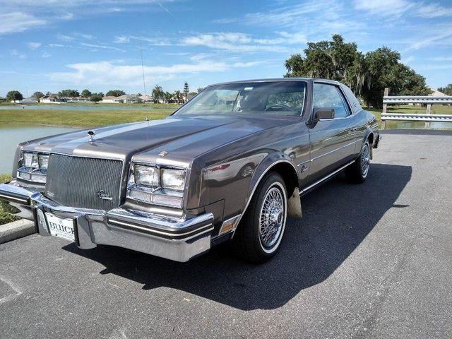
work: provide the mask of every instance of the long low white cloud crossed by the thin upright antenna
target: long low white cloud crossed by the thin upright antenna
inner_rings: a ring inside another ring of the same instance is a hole
[[[251,67],[263,61],[234,62],[202,60],[194,64],[174,64],[170,66],[144,66],[146,81],[157,83],[174,76],[191,73],[223,72],[233,68]],[[140,64],[124,65],[114,61],[99,61],[67,65],[71,71],[50,73],[51,81],[72,83],[73,85],[141,85],[143,73]]]

